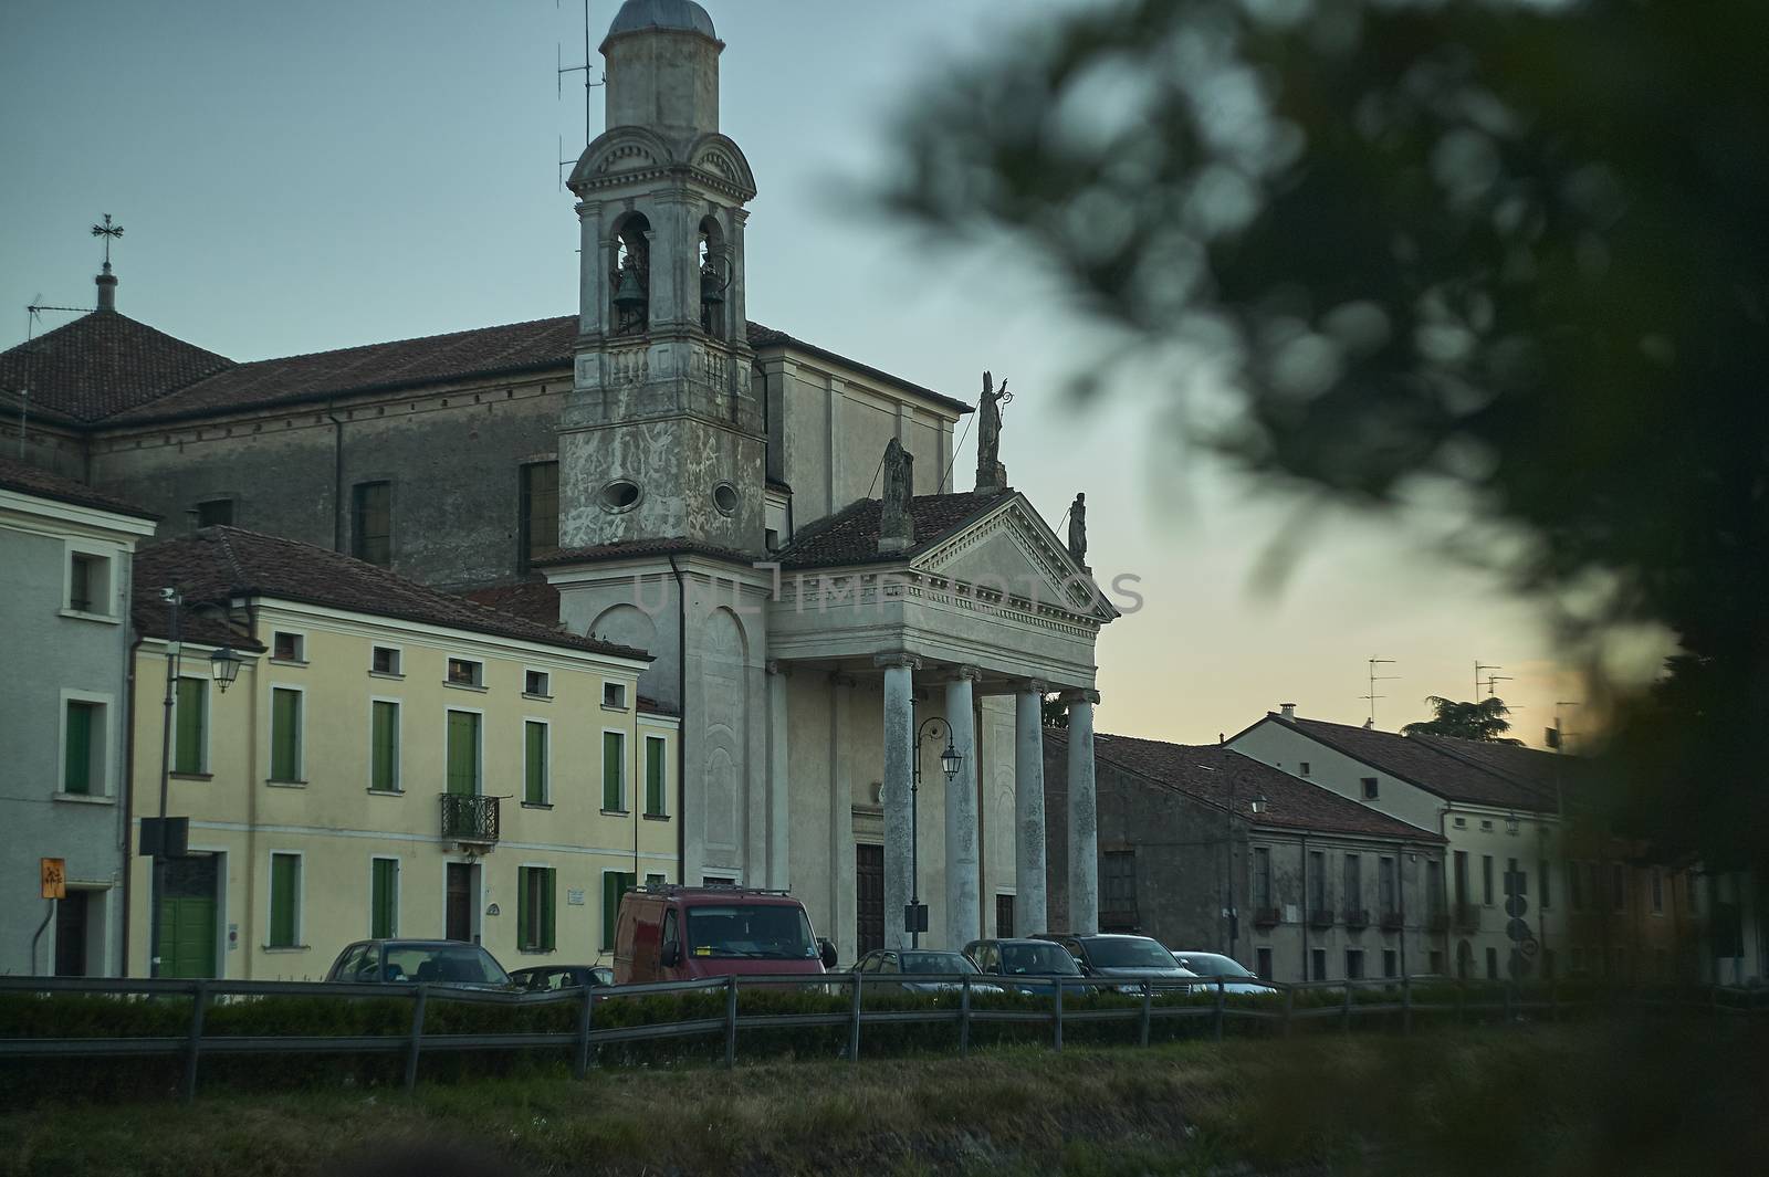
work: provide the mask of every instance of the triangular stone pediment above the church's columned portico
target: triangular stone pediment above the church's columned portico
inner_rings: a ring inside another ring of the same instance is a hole
[[[909,567],[1100,622],[1118,615],[1022,495],[929,544]]]

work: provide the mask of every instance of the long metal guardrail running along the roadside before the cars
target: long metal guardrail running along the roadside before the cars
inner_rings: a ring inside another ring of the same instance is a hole
[[[143,1036],[143,1037],[9,1037],[0,1039],[0,1059],[44,1059],[44,1057],[156,1057],[182,1055],[184,1073],[180,1092],[186,1099],[196,1094],[196,1078],[203,1055],[274,1055],[274,1053],[403,1053],[405,1089],[417,1083],[417,1062],[428,1052],[476,1052],[476,1050],[557,1050],[570,1048],[573,1074],[584,1078],[596,1062],[596,1048],[601,1044],[635,1043],[672,1037],[724,1036],[724,1064],[736,1066],[739,1030],[796,1029],[796,1027],[847,1027],[846,1057],[858,1060],[862,1052],[862,1029],[867,1025],[941,1025],[957,1027],[959,1055],[969,1053],[971,1029],[978,1023],[1047,1023],[1051,1027],[1051,1046],[1063,1048],[1063,1029],[1068,1025],[1086,1025],[1099,1021],[1134,1021],[1137,1023],[1137,1043],[1146,1046],[1150,1027],[1155,1020],[1210,1020],[1212,1037],[1222,1039],[1229,1020],[1277,1021],[1281,1034],[1288,1036],[1298,1021],[1337,1018],[1344,1032],[1352,1030],[1357,1018],[1373,1014],[1399,1014],[1403,1032],[1410,1034],[1415,1014],[1454,1014],[1463,1021],[1470,1013],[1504,1013],[1505,1021],[1520,1020],[1527,1013],[1546,1011],[1550,1020],[1558,1020],[1564,1013],[1594,1004],[1615,1004],[1615,993],[1603,993],[1580,988],[1583,997],[1564,997],[1558,984],[1546,986],[1546,999],[1537,990],[1518,991],[1504,983],[1447,981],[1442,977],[1421,979],[1426,995],[1454,991],[1452,1002],[1419,1000],[1413,977],[1389,977],[1376,981],[1311,981],[1283,984],[1270,981],[1237,979],[1214,983],[1130,983],[1123,979],[1097,977],[1014,977],[996,979],[987,976],[962,976],[953,981],[952,974],[890,974],[881,981],[879,974],[833,972],[823,976],[807,974],[768,974],[768,976],[732,976],[711,977],[704,981],[663,981],[651,984],[591,986],[571,990],[552,990],[541,993],[502,993],[462,990],[430,983],[302,983],[302,981],[166,981],[166,979],[111,979],[111,977],[0,977],[0,993],[32,993],[50,997],[58,993],[88,993],[115,997],[189,997],[191,1018],[182,1036]],[[939,984],[950,990],[925,995],[930,1000],[916,1009],[865,1009],[863,995],[883,990],[893,995],[907,995],[906,984]],[[1258,986],[1261,993],[1229,991],[1235,986]],[[828,1013],[787,1013],[787,1014],[739,1014],[738,991],[747,990],[812,990],[837,993],[847,991],[846,1011]],[[957,990],[953,993],[952,990]],[[973,997],[999,997],[1008,991],[1024,990],[1022,995],[1049,995],[1044,1009],[978,1009]],[[1214,997],[1210,1002],[1157,1004],[1159,999],[1175,995],[1192,995],[1203,990]],[[596,1006],[609,1000],[681,995],[681,993],[718,993],[725,995],[724,1013],[716,1018],[685,1018],[678,1021],[656,1021],[642,1025],[596,1027]],[[1114,993],[1136,999],[1122,1006],[1106,1009],[1067,1009],[1065,995],[1070,993]],[[1297,1006],[1297,995],[1337,993],[1341,1000],[1321,1002],[1306,1007]],[[1378,995],[1390,1000],[1359,1000],[1357,995]],[[1762,1014],[1769,1013],[1769,990],[1744,990],[1734,986],[1707,986],[1686,990],[1700,993],[1702,999],[1689,997],[1650,997],[1647,993],[1622,995],[1622,1004],[1649,1009],[1704,1009],[1709,1013]],[[943,1004],[938,999],[957,997],[957,1006]],[[1475,1000],[1470,1000],[1470,995]],[[405,1034],[356,1034],[356,1036],[234,1036],[205,1034],[207,1011],[216,999],[226,997],[338,997],[338,999],[409,999],[412,1002],[410,1029]],[[1728,1000],[1730,999],[1730,1000]],[[430,1002],[449,1000],[486,1006],[577,1006],[575,1030],[522,1032],[522,1034],[426,1034],[425,1016]]]

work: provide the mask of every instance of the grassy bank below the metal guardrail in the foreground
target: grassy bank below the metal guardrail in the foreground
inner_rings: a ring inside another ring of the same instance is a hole
[[[1765,1046],[1757,1025],[1679,1021],[610,1069],[582,1083],[541,1069],[414,1096],[0,1112],[0,1173],[1769,1172]]]

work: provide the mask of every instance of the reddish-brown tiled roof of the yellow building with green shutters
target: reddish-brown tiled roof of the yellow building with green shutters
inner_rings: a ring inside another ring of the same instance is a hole
[[[145,619],[145,633],[156,636],[166,636],[159,588],[175,585],[191,603],[264,596],[649,661],[644,650],[580,638],[325,548],[237,527],[205,527],[195,535],[143,548],[134,558],[134,583],[136,613]]]

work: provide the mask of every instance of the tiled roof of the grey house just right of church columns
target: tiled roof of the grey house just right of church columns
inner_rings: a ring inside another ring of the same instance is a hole
[[[1053,728],[1047,742],[1068,746],[1068,733]],[[1307,829],[1367,838],[1406,838],[1440,843],[1433,831],[1360,806],[1348,797],[1260,763],[1221,744],[1168,744],[1132,735],[1095,735],[1093,758],[1136,776],[1198,797],[1219,809],[1233,809],[1254,825]],[[1265,813],[1252,816],[1251,802],[1265,797]]]

